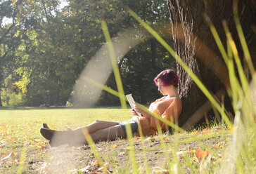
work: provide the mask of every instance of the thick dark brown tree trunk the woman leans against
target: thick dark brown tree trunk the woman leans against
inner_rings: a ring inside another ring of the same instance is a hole
[[[229,88],[229,76],[217,48],[210,27],[204,20],[204,15],[215,25],[222,44],[226,47],[226,35],[222,21],[226,20],[231,35],[236,42],[240,58],[243,58],[236,25],[233,22],[233,1],[231,0],[168,0],[167,1],[174,49],[188,67],[199,77],[207,89],[218,95],[227,110],[232,113],[229,98],[224,98],[224,88]],[[239,0],[238,14],[240,17],[245,39],[248,43],[251,57],[256,56],[256,2],[254,0]],[[243,60],[241,62],[244,62]],[[177,63],[177,74],[180,77],[179,95],[183,109],[179,117],[179,126],[188,129],[202,121],[203,116],[211,109],[210,102],[196,86],[190,76]],[[223,101],[224,98],[224,101]],[[193,119],[191,118],[193,117]]]

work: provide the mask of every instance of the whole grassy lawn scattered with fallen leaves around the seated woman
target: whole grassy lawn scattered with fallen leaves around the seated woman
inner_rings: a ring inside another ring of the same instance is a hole
[[[0,109],[0,173],[215,173],[223,170],[232,134],[212,124],[191,132],[50,147],[39,129],[77,128],[96,119],[124,121],[130,109]],[[255,141],[254,141],[255,142]],[[255,163],[255,161],[252,161]]]

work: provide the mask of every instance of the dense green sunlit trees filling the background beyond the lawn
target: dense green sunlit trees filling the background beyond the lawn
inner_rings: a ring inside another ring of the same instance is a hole
[[[166,30],[169,12],[165,1],[4,1],[1,2],[1,100],[9,106],[11,95],[23,97],[17,105],[65,105],[79,74],[105,44],[100,20],[108,25],[110,36],[136,29],[140,44],[119,62],[124,91],[134,93],[138,102],[159,97],[153,90],[153,77],[175,61],[155,39],[124,11],[131,6],[152,26]],[[136,6],[135,6],[136,4]],[[7,23],[3,19],[8,19]],[[161,27],[160,27],[161,26]],[[100,67],[99,67],[100,68]],[[12,78],[12,83],[5,83]],[[114,76],[106,83],[116,88]],[[146,91],[142,89],[146,88]],[[13,98],[13,97],[12,97]],[[15,102],[13,105],[16,105]],[[120,105],[118,98],[103,92],[98,105]]]

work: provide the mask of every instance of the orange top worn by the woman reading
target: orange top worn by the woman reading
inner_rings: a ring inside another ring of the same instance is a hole
[[[154,114],[160,115],[163,119],[177,123],[179,114],[181,114],[181,109],[182,104],[180,98],[162,97],[151,103],[148,110]],[[148,116],[136,116],[136,120],[139,122],[139,126],[141,127],[144,136],[155,135],[158,132],[156,121],[159,121],[162,131],[166,131],[169,128],[169,126],[162,121],[155,119],[154,116],[151,116],[151,118]]]

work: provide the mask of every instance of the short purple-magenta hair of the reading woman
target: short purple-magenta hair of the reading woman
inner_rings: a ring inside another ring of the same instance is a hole
[[[156,86],[158,86],[158,79],[162,81],[163,86],[173,85],[176,88],[178,87],[179,76],[173,69],[166,69],[155,76],[154,82]]]

